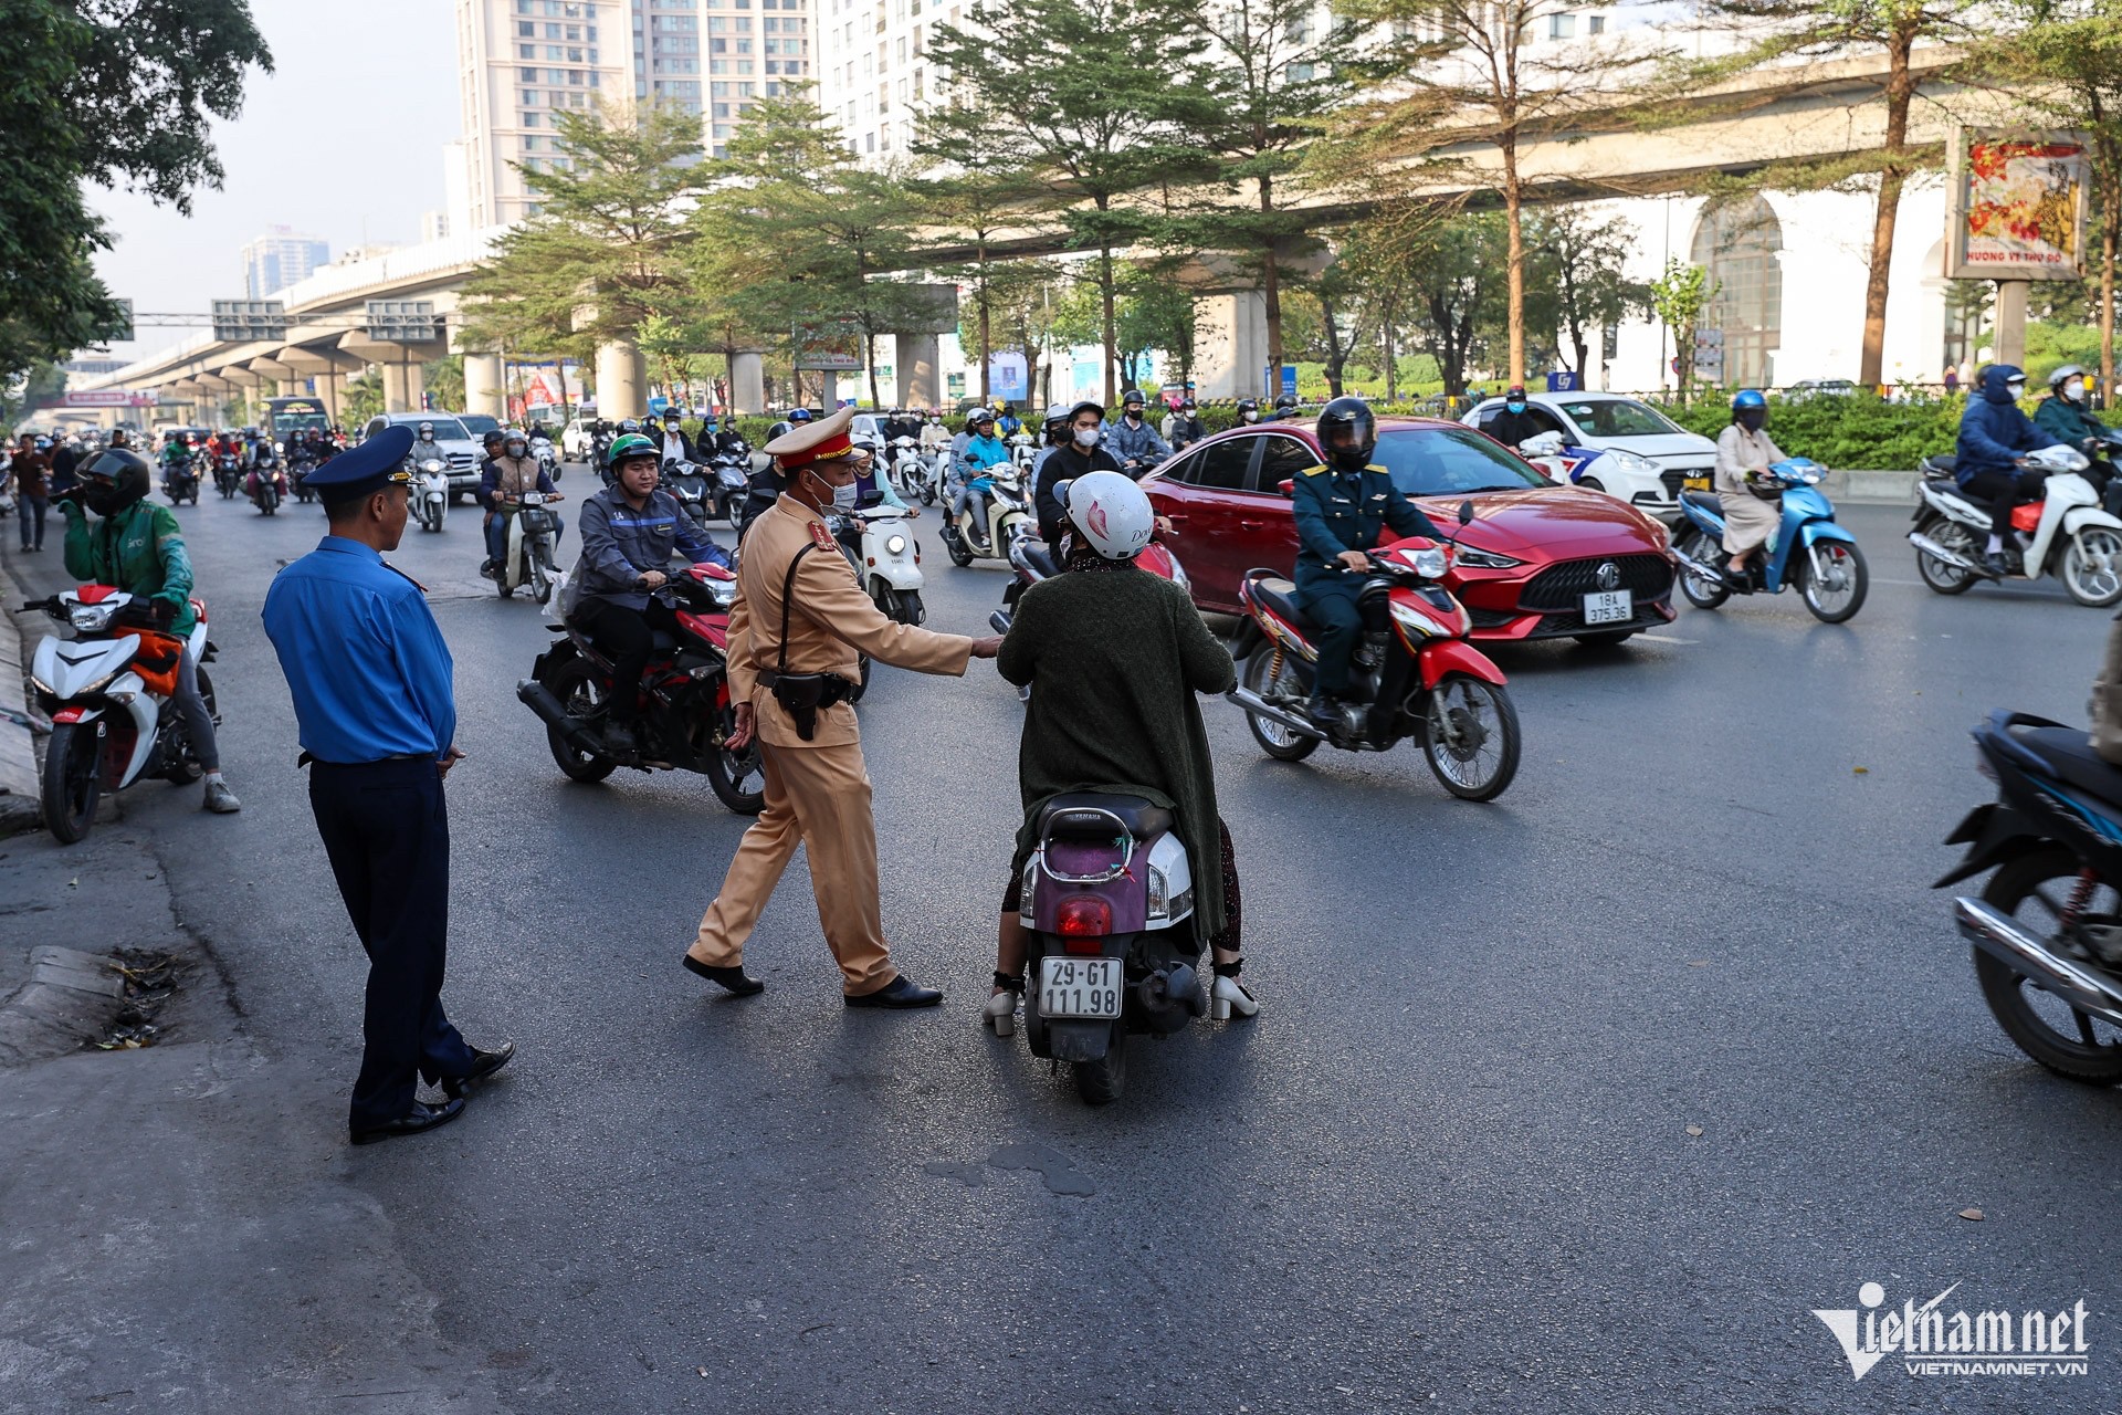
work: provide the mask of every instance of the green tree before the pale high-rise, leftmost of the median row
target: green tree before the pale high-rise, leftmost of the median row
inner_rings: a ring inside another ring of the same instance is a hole
[[[554,115],[554,155],[514,163],[539,214],[465,284],[473,346],[590,361],[658,316],[694,314],[683,204],[702,187],[700,119],[673,104]]]

